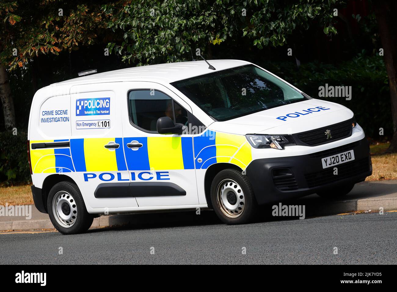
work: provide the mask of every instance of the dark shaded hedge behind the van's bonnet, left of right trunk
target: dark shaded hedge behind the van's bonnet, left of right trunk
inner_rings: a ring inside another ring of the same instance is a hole
[[[338,66],[316,62],[299,67],[291,62],[272,62],[263,66],[312,98],[337,102],[353,110],[367,137],[376,141],[391,139],[391,101],[382,57],[359,54]],[[351,100],[347,101],[344,97],[319,97],[319,87],[326,83],[329,86],[351,86]],[[379,128],[384,129],[383,136],[379,135]]]

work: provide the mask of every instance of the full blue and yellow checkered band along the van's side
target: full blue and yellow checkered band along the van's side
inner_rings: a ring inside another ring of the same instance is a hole
[[[54,141],[68,140],[31,143]],[[105,148],[110,141],[115,141],[120,147],[114,151]],[[127,147],[132,141],[143,146],[132,150]],[[70,149],[31,149],[34,173],[206,169],[220,162],[233,163],[245,169],[251,161],[251,145],[245,136],[210,130],[195,137],[71,139]]]

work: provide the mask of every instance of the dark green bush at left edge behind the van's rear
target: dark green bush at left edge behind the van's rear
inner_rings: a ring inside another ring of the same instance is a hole
[[[26,141],[26,133],[0,132],[0,182],[30,182]]]

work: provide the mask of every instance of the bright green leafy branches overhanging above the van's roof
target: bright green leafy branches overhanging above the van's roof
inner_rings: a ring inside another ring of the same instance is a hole
[[[107,27],[123,33],[122,41],[108,44],[110,51],[142,65],[190,59],[197,48],[210,57],[210,44],[235,36],[251,39],[258,48],[282,46],[288,35],[314,23],[322,25],[327,35],[336,34],[331,14],[335,2],[147,0],[125,4],[121,0],[102,10]]]

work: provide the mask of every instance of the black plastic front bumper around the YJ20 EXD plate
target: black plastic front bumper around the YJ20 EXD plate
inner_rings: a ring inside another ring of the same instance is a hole
[[[354,150],[355,160],[322,168],[321,159]],[[281,150],[282,151],[282,150]],[[342,184],[357,183],[372,174],[366,138],[308,155],[256,159],[246,170],[259,205],[302,197]]]

